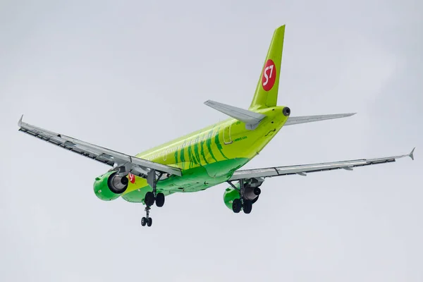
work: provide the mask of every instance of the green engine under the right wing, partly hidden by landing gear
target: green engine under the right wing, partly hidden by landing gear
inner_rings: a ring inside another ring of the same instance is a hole
[[[262,192],[259,186],[262,185],[263,180],[257,178],[250,178],[244,180],[244,197],[245,199],[251,200],[254,204],[259,200],[259,195]],[[240,183],[235,184],[235,188],[228,187],[223,193],[223,202],[225,202],[226,207],[232,210],[232,202],[235,199],[240,198]]]

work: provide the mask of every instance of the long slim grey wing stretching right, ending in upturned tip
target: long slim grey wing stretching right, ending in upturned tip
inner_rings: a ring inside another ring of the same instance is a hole
[[[331,171],[333,169],[343,168],[347,171],[352,171],[353,168],[359,166],[369,166],[372,164],[385,164],[396,161],[403,157],[410,157],[414,160],[414,150],[410,154],[403,154],[396,157],[384,157],[379,159],[355,159],[350,161],[335,161],[329,163],[320,163],[320,164],[302,164],[296,166],[277,166],[271,168],[257,168],[257,169],[247,169],[241,171],[235,171],[231,180],[240,180],[248,178],[266,178],[273,176],[288,176],[290,174],[298,174],[300,176],[307,176],[307,173],[318,172],[318,171]]]

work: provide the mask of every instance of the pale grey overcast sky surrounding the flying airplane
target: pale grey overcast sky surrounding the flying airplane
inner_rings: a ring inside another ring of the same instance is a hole
[[[422,1],[1,1],[0,281],[423,281]],[[102,202],[103,164],[25,121],[128,154],[247,107],[286,24],[278,104],[293,116],[247,168],[406,154],[268,179],[251,214],[219,185]],[[119,280],[118,280],[119,279]]]

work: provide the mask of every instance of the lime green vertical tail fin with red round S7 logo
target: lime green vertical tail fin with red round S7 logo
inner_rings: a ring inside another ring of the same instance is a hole
[[[249,108],[250,110],[276,106],[284,36],[285,25],[276,28],[273,38],[271,39],[269,51],[267,51],[264,67],[260,74],[259,82],[257,83],[254,98]]]

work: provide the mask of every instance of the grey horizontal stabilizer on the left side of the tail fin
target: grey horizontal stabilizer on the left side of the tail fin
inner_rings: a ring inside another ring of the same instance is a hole
[[[259,125],[260,121],[266,117],[264,114],[255,113],[254,111],[248,111],[245,109],[237,108],[236,106],[229,106],[210,100],[204,102],[204,104],[222,112],[223,114],[231,116],[238,121],[242,121],[245,123],[245,128],[250,130],[257,128],[257,125]]]

